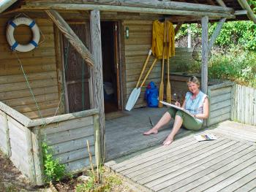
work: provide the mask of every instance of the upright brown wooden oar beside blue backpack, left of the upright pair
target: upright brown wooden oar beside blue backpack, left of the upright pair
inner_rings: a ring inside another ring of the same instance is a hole
[[[162,108],[162,103],[160,101],[164,100],[164,69],[165,69],[165,31],[166,31],[166,18],[165,18],[165,28],[164,28],[164,41],[162,43],[163,50],[162,50],[162,74],[161,74],[161,83],[159,87],[159,102],[158,107]]]

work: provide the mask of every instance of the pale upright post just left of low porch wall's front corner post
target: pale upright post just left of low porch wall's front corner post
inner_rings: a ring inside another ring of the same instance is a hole
[[[32,144],[32,137],[31,137],[31,130],[27,127],[25,128],[25,134],[26,134],[26,145],[28,145],[27,154],[28,155],[28,161],[29,161],[29,179],[33,184],[37,183],[35,169],[34,169],[34,153],[33,153],[33,144]]]

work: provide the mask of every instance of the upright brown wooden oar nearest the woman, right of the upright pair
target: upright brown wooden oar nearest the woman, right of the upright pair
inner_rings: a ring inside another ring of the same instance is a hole
[[[170,104],[172,101],[172,93],[170,88],[170,64],[169,64],[169,56],[170,56],[170,39],[169,39],[169,28],[167,25],[167,85],[166,85],[166,101]]]

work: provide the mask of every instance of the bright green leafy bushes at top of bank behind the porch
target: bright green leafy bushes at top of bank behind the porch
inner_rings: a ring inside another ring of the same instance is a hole
[[[209,23],[209,37],[213,34],[217,23]],[[201,37],[200,24],[189,25],[194,39]],[[187,36],[188,25],[181,26],[176,39]],[[224,23],[222,31],[217,38],[215,45],[219,47],[243,47],[246,50],[256,50],[256,24],[252,21],[232,21]]]

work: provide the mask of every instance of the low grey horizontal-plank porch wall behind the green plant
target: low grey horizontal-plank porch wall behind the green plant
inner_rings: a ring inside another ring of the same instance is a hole
[[[58,158],[68,172],[89,166],[86,140],[95,164],[93,116],[48,124],[40,128],[40,135],[52,147],[53,157]]]

